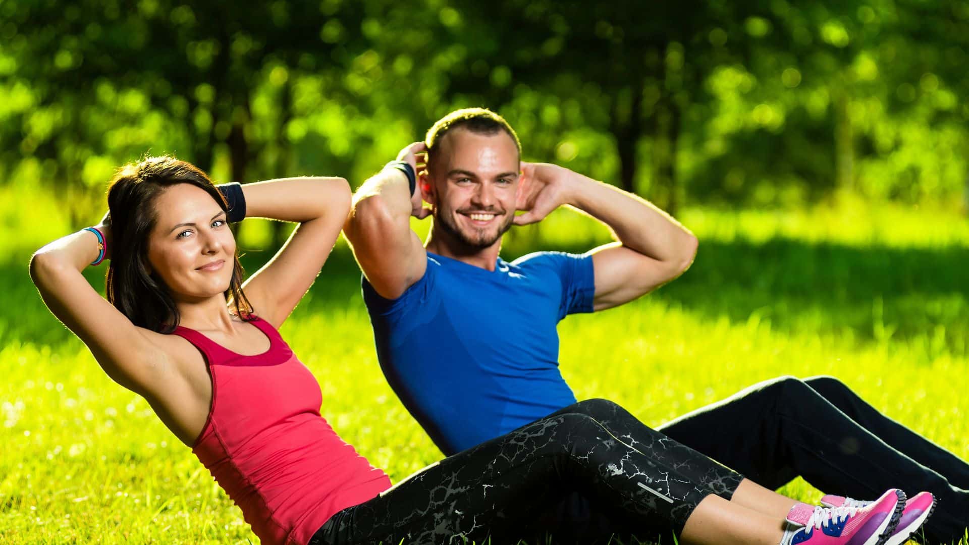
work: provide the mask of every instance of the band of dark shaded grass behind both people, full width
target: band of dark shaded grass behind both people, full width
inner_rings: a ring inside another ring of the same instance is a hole
[[[582,252],[588,245],[543,248]],[[507,247],[506,259],[526,253]],[[273,254],[242,259],[255,272]],[[0,265],[6,301],[0,341],[51,343],[69,334],[44,308],[26,258]],[[85,275],[104,286],[103,268]],[[346,248],[333,252],[297,312],[362,307],[359,270]],[[704,241],[693,267],[650,296],[734,322],[769,321],[780,331],[841,333],[860,338],[928,337],[940,350],[964,356],[969,338],[969,248],[854,247],[801,240],[752,243]],[[336,305],[334,307],[334,305]]]

